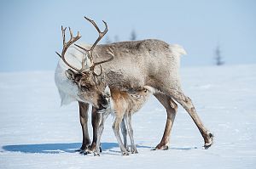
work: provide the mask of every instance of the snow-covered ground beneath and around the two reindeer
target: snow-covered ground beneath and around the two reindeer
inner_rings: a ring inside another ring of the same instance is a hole
[[[181,75],[215,135],[210,149],[202,149],[200,132],[179,106],[171,148],[151,150],[166,123],[166,110],[152,98],[133,117],[139,154],[120,155],[110,116],[95,157],[74,152],[82,140],[78,104],[60,107],[54,72],[1,73],[0,168],[255,168],[256,65],[183,68]]]

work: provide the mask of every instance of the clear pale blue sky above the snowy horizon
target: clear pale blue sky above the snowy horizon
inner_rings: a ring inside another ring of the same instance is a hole
[[[61,25],[80,31],[80,42],[93,43],[97,32],[84,16],[108,34],[102,39],[155,38],[186,49],[182,66],[214,65],[220,47],[225,65],[256,64],[254,0],[2,0],[0,71],[55,70],[61,51]]]

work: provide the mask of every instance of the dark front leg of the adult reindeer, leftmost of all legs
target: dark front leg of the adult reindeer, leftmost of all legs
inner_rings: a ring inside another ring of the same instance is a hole
[[[90,145],[90,137],[88,132],[88,110],[89,110],[89,104],[84,104],[82,102],[79,102],[79,116],[80,116],[80,124],[82,127],[83,132],[83,144],[80,149],[77,151],[84,152],[85,149],[88,148]]]

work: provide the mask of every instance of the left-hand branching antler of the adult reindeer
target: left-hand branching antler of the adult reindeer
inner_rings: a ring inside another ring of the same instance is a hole
[[[73,32],[71,31],[70,27],[68,27],[68,30],[69,30],[69,33],[70,33],[70,40],[68,42],[66,42],[66,35],[65,35],[66,29],[67,29],[67,27],[63,28],[63,26],[61,25],[62,38],[63,38],[63,48],[62,48],[61,54],[59,54],[57,52],[56,52],[56,54],[58,54],[61,57],[61,59],[64,61],[64,63],[66,65],[71,67],[73,70],[77,70],[79,72],[81,70],[75,68],[73,65],[68,64],[67,60],[65,59],[65,53],[67,52],[67,48],[69,48],[74,42],[77,42],[81,36],[79,34],[79,31],[78,31],[78,35],[76,37],[73,37]]]

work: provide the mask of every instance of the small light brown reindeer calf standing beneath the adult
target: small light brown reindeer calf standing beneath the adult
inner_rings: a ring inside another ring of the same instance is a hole
[[[97,144],[95,155],[99,155],[100,152],[100,141],[102,137],[102,132],[104,129],[104,122],[108,118],[109,114],[114,116],[113,121],[113,132],[119,147],[121,149],[122,155],[129,155],[129,148],[127,146],[127,131],[131,139],[131,153],[137,153],[136,145],[133,139],[133,129],[131,126],[131,115],[136,113],[143,107],[143,104],[148,100],[149,96],[152,95],[152,87],[143,87],[133,93],[122,92],[115,88],[106,87],[104,91],[104,96],[108,100],[108,108],[105,110],[98,111],[102,113],[101,121],[98,129]],[[124,138],[124,143],[121,140],[119,128],[121,125],[121,131]],[[127,128],[127,129],[126,129]]]

